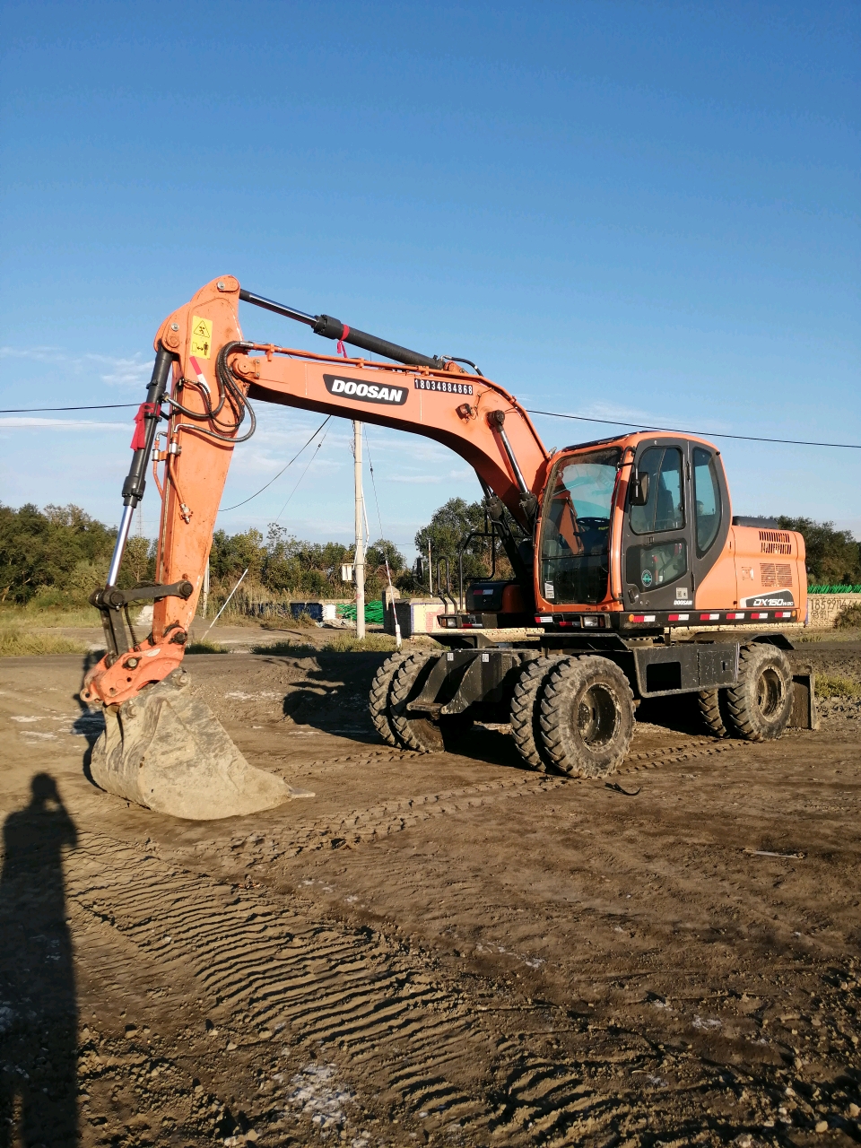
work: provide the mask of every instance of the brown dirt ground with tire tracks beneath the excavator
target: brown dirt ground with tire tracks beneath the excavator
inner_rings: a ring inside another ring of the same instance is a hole
[[[189,658],[315,793],[209,823],[88,781],[78,657],[0,662],[0,1146],[861,1141],[861,703],[644,704],[613,788],[383,746],[383,657]]]

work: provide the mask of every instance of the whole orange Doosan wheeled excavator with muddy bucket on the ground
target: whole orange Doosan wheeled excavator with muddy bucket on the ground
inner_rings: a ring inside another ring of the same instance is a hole
[[[248,342],[240,301],[377,357]],[[254,401],[421,434],[476,472],[514,576],[452,599],[458,608],[434,634],[441,650],[398,652],[380,667],[370,708],[390,744],[439,750],[473,721],[503,721],[527,766],[602,777],[625,758],[643,699],[695,693],[713,732],[752,740],[813,721],[810,680],[793,680],[781,629],[805,618],[804,540],[732,517],[720,451],[704,439],[636,433],[551,453],[513,395],[473,363],[297,311],[232,276],[170,315],[155,351],[107,585],[92,597],[107,653],[82,697],[104,709],[91,763],[103,789],[191,819],[295,796],[245,760],[183,668]],[[162,497],[155,582],[121,590],[150,460]],[[129,613],[141,602],[154,603],[146,636]]]

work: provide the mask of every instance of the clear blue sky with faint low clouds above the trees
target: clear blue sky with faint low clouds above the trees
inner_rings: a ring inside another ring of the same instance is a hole
[[[529,406],[861,443],[860,28],[827,2],[7,2],[0,408],[139,401],[163,317],[233,273],[475,359]],[[0,499],[116,522],[132,413],[0,416]],[[319,421],[258,416],[225,506]],[[550,447],[612,429],[536,424]],[[347,541],[350,427],[329,427],[280,521]],[[861,451],[718,441],[737,513],[861,536]],[[479,495],[441,447],[370,447],[410,554]],[[265,530],[307,458],[220,525]]]

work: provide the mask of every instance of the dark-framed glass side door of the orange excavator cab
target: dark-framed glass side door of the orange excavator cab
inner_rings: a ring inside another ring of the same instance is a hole
[[[631,473],[647,475],[645,504],[630,504],[622,529],[625,605],[636,610],[693,606],[690,444],[659,437],[638,443]]]

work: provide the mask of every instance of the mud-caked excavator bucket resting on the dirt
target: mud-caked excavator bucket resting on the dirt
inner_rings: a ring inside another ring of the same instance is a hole
[[[212,711],[174,669],[122,706],[104,707],[93,746],[93,781],[109,793],[168,813],[211,821],[313,797],[249,766]]]

